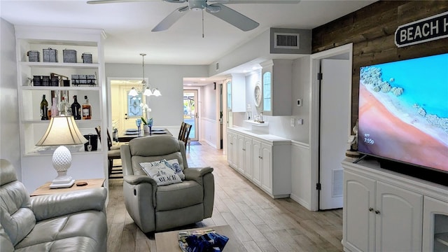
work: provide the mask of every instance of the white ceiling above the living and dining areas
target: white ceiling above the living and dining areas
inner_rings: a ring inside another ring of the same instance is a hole
[[[146,64],[209,65],[269,27],[312,29],[374,2],[288,1],[293,3],[226,4],[260,23],[251,31],[241,31],[204,13],[204,38],[201,11],[190,10],[166,31],[151,31],[169,13],[187,3],[136,0],[87,4],[85,0],[0,0],[0,12],[1,18],[13,25],[104,29],[107,36],[104,41],[106,63],[139,64],[139,54],[144,52],[147,54]]]

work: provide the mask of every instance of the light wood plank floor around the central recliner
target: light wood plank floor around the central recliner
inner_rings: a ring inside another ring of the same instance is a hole
[[[187,158],[189,167],[214,167],[215,204],[211,218],[183,228],[230,225],[248,251],[342,251],[342,209],[313,212],[273,200],[207,144],[191,146]],[[108,251],[155,251],[154,233],[145,235],[127,214],[123,179],[109,181],[107,223]]]

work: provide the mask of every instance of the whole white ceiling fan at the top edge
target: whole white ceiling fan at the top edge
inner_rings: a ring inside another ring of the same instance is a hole
[[[92,0],[87,3],[123,3],[142,0]],[[169,3],[187,3],[187,6],[177,8],[172,13],[167,15],[152,31],[165,31],[169,29],[175,22],[185,15],[188,10],[206,10],[207,13],[214,15],[216,18],[221,18],[230,25],[233,25],[242,31],[250,31],[258,27],[258,22],[251,20],[251,18],[225,6],[223,3],[298,3],[300,0],[163,0]],[[211,3],[211,4],[209,4]]]

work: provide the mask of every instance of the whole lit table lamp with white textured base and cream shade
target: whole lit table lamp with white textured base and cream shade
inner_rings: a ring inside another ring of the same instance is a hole
[[[47,131],[36,146],[59,146],[53,153],[53,167],[57,177],[50,188],[69,188],[75,183],[71,176],[67,176],[67,170],[71,166],[71,153],[67,145],[85,144],[87,139],[83,137],[76,126],[73,116],[54,116],[50,120]]]

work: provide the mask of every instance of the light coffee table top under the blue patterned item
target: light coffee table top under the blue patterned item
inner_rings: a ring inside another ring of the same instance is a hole
[[[235,232],[233,232],[232,228],[229,225],[216,226],[216,227],[204,227],[204,228],[193,228],[188,230],[176,230],[169,232],[158,232],[155,233],[155,247],[157,252],[181,252],[181,247],[179,246],[178,235],[180,231],[193,231],[193,230],[204,230],[204,229],[212,229],[215,230],[219,235],[225,235],[229,238],[227,244],[223,251],[228,252],[243,252],[247,251],[244,248],[241,241],[239,241]]]

